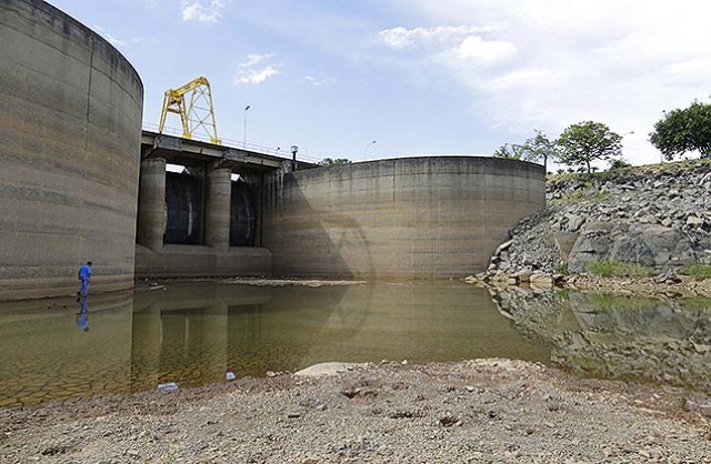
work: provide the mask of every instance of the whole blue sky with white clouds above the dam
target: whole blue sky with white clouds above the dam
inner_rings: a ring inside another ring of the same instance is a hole
[[[645,164],[663,111],[711,94],[703,0],[50,3],[138,70],[144,122],[167,89],[204,75],[220,138],[311,159],[490,155],[592,120]]]

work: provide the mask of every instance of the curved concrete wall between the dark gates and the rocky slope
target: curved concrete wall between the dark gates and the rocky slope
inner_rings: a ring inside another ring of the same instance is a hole
[[[545,204],[543,167],[411,158],[287,174],[268,189],[263,243],[277,275],[461,278],[487,269]]]

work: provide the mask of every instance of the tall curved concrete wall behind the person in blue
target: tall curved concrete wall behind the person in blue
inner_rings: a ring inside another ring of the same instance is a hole
[[[0,1],[0,299],[133,285],[143,87],[39,0]]]

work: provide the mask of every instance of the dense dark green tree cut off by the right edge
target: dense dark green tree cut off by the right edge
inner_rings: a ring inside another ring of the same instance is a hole
[[[664,111],[649,140],[669,161],[695,150],[711,157],[711,104],[694,100],[687,109]]]

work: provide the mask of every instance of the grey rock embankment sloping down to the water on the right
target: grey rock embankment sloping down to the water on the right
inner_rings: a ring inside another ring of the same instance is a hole
[[[705,160],[553,179],[548,209],[511,231],[480,278],[545,284],[612,262],[678,283],[690,266],[711,264],[710,192]]]

